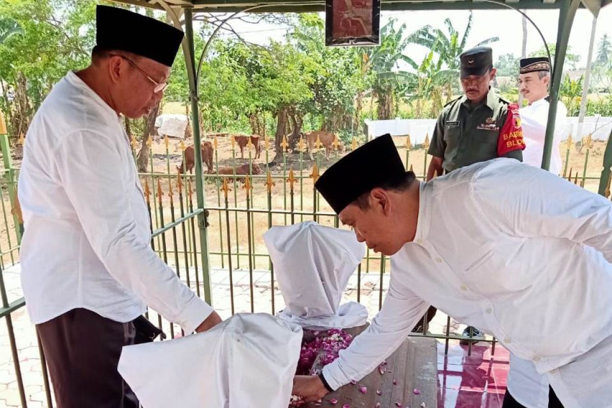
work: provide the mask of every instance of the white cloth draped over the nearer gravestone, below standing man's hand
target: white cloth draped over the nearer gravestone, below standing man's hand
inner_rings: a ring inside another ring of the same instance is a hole
[[[235,314],[211,330],[123,348],[119,373],[146,408],[287,408],[302,328]]]

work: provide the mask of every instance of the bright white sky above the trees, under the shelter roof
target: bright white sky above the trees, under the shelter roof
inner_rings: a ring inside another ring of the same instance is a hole
[[[527,14],[539,26],[547,42],[555,43],[559,16],[558,10],[528,10]],[[450,18],[455,29],[463,32],[468,22],[468,16],[468,10],[383,12],[381,15],[381,26],[389,21],[390,18],[397,18],[398,22],[406,23],[406,26],[408,26],[407,33],[416,31],[426,24],[441,28],[446,32],[444,19]],[[324,18],[324,13],[321,13],[321,17]],[[595,54],[597,53],[597,42],[599,42],[602,35],[607,33],[609,37],[612,37],[611,22],[612,5],[604,7],[600,11],[595,31]],[[581,57],[580,62],[577,64],[579,68],[586,66],[592,23],[593,17],[591,12],[586,9],[578,10],[570,34],[569,45],[571,52]],[[260,44],[267,43],[270,38],[283,40],[283,35],[286,33],[286,28],[266,23],[255,25],[237,21],[232,23],[232,26],[237,32],[244,33],[244,36],[248,37],[249,41]],[[493,47],[494,61],[497,61],[499,55],[504,53],[520,56],[523,37],[522,16],[520,13],[517,13],[515,10],[474,10],[474,23],[472,32],[469,35],[468,47],[495,36],[499,37],[499,42],[491,45]],[[527,37],[527,54],[542,48],[543,42],[535,28],[531,26],[531,23],[528,23]],[[419,45],[409,46],[408,50],[406,50],[406,54],[414,56],[417,61],[422,59],[419,53],[423,57],[426,53],[425,49]]]

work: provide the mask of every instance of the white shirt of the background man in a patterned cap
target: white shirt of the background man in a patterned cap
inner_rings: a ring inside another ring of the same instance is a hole
[[[546,125],[548,123],[548,107],[550,103],[545,98],[537,100],[531,105],[519,109],[521,116],[521,127],[525,149],[523,150],[523,163],[530,166],[541,167],[544,152],[544,140],[546,136]],[[550,171],[559,175],[561,172],[561,153],[559,145],[565,134],[567,126],[567,108],[563,102],[557,105],[557,116],[554,121],[553,152],[550,156]]]

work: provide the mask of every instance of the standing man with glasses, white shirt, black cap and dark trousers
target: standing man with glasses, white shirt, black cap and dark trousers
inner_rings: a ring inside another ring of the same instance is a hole
[[[61,408],[138,407],[117,364],[123,346],[147,335],[139,330],[146,306],[187,333],[220,322],[149,246],[119,116],[141,117],[159,101],[182,37],[152,18],[98,6],[91,65],[53,87],[28,130],[21,283]]]

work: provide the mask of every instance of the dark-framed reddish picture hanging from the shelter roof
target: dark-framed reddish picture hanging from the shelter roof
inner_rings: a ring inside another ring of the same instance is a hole
[[[325,45],[378,45],[380,0],[326,0]]]

